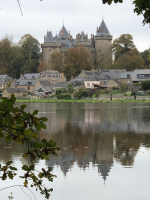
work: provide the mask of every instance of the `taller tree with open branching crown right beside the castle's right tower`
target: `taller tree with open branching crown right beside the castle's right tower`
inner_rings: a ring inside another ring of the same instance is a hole
[[[112,52],[115,60],[130,50],[135,51],[135,53],[137,52],[133,37],[130,34],[121,35],[119,38],[115,39],[112,44]]]

